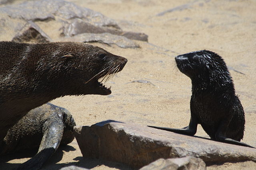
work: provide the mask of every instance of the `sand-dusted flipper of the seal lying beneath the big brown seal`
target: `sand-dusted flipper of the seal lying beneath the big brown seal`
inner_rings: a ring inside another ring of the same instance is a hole
[[[43,125],[43,137],[38,153],[21,164],[17,168],[18,170],[37,170],[41,168],[44,162],[58,149],[64,130],[63,116],[61,113],[52,111],[45,117],[47,119]]]

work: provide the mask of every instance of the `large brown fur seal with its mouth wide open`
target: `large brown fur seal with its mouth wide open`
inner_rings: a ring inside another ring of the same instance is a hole
[[[111,94],[104,82],[126,62],[86,43],[0,42],[0,141],[28,111],[50,100]]]

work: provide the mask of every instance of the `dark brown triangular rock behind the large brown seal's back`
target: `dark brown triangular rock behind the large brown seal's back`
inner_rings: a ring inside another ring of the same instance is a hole
[[[34,22],[28,21],[28,23],[22,28],[22,30],[14,36],[12,41],[19,43],[33,42],[33,43],[47,43],[52,41],[51,38],[38,27]]]

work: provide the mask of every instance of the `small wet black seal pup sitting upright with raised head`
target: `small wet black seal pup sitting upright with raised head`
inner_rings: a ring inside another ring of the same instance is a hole
[[[240,142],[244,136],[244,109],[222,57],[202,50],[178,55],[175,61],[180,72],[192,81],[190,123],[182,129],[150,127],[192,136],[201,124],[213,140],[251,147]]]

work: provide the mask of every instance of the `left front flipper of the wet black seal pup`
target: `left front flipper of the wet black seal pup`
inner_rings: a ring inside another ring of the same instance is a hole
[[[157,126],[148,126],[148,127],[153,127],[155,129],[161,129],[161,130],[175,132],[175,133],[179,133],[179,134],[183,134],[183,135],[193,136],[196,134],[197,124],[198,124],[197,119],[194,116],[192,116],[192,114],[191,114],[189,125],[182,129],[174,129],[174,128],[168,128],[168,127],[157,127]]]

